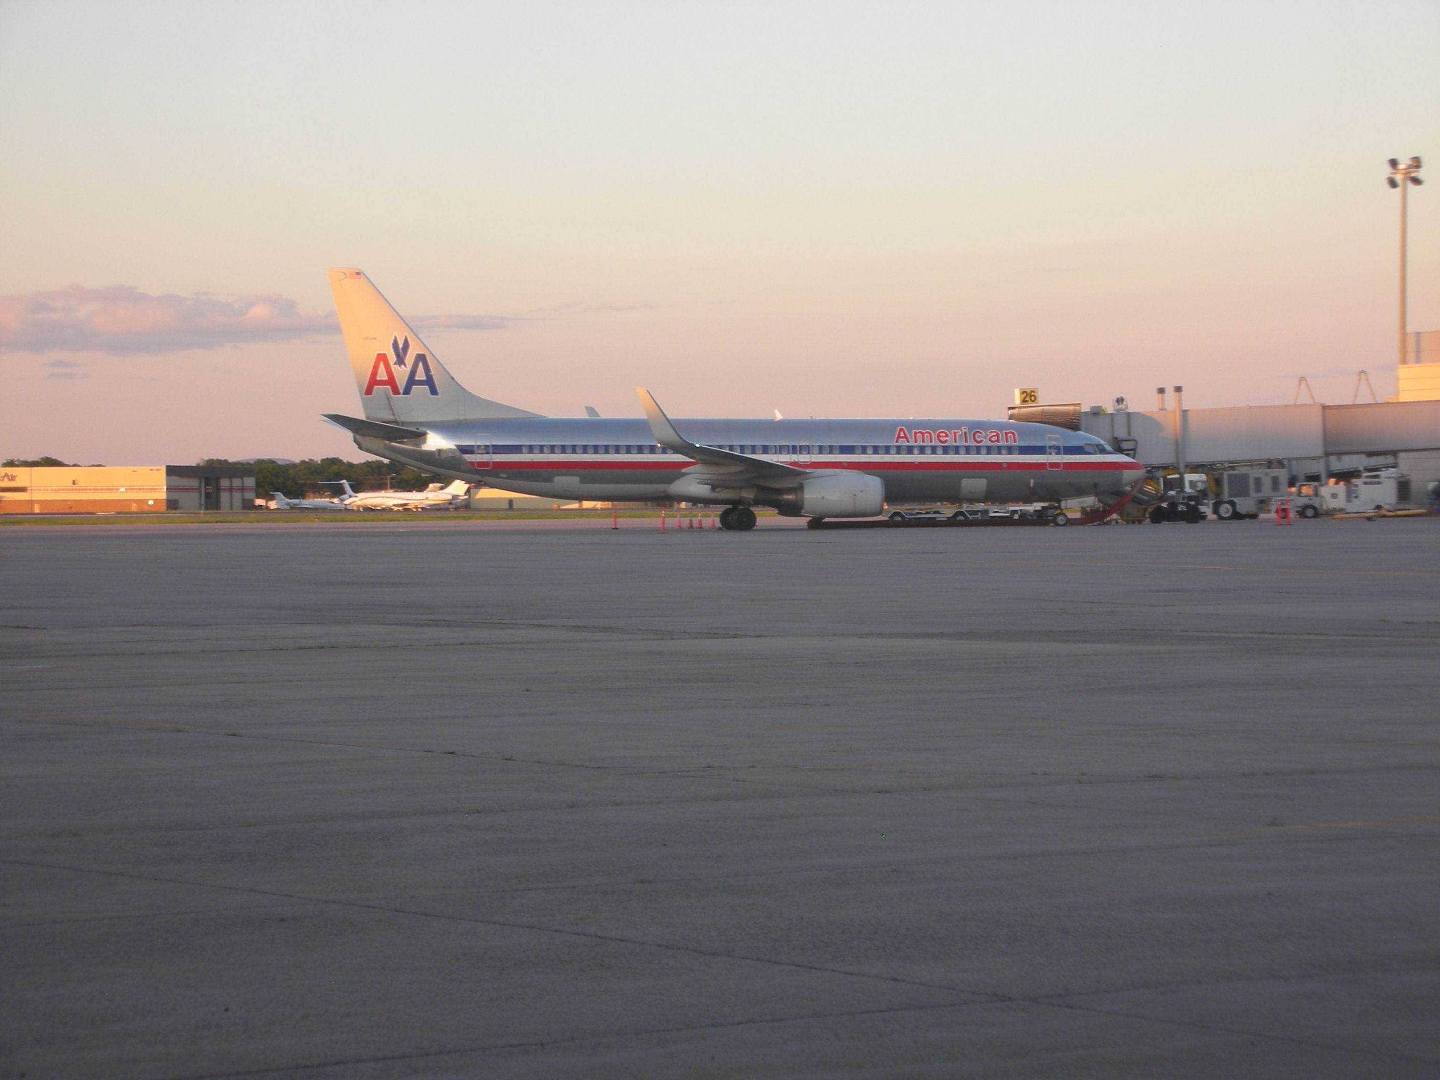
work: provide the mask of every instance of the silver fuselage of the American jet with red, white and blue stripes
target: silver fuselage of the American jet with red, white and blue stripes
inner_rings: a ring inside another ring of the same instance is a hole
[[[1037,423],[685,419],[675,425],[706,446],[815,472],[877,477],[891,504],[1054,501],[1116,491],[1142,475],[1133,459],[1090,435]],[[356,442],[431,472],[564,500],[674,498],[677,481],[706,468],[660,446],[642,419],[526,418],[426,428],[428,438],[410,444]]]

